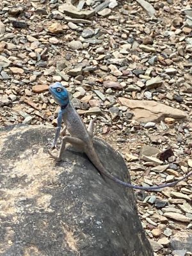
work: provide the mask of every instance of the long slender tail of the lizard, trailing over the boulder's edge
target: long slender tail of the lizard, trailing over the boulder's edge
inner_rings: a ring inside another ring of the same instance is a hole
[[[166,187],[172,187],[172,186],[175,186],[180,181],[185,180],[189,176],[192,175],[192,172],[189,172],[186,176],[182,177],[181,179],[173,181],[173,182],[170,182],[170,183],[160,184],[159,186],[152,186],[152,187],[141,187],[141,186],[132,185],[131,183],[124,182],[123,180],[120,180],[120,179],[116,178],[115,176],[113,176],[111,173],[109,173],[104,168],[102,163],[100,162],[100,159],[97,156],[97,153],[95,152],[93,147],[92,148],[88,148],[88,151],[86,152],[86,155],[88,156],[90,161],[93,163],[93,165],[97,168],[99,173],[105,175],[109,179],[111,179],[111,180],[115,181],[116,183],[118,183],[120,185],[123,185],[123,186],[125,186],[127,188],[140,189],[140,190],[146,190],[147,191],[147,190],[156,190],[156,189],[161,189],[161,188],[166,188]]]

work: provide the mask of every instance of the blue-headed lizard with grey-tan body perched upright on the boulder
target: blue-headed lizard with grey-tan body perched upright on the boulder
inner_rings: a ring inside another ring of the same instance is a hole
[[[127,188],[140,189],[140,190],[156,190],[156,189],[166,188],[170,186],[175,186],[175,184],[177,184],[178,182],[184,179],[187,179],[190,175],[192,175],[192,172],[190,172],[188,173],[188,175],[174,182],[161,184],[159,186],[152,186],[152,187],[136,186],[116,178],[110,172],[108,172],[108,170],[104,168],[93,146],[94,120],[92,119],[90,121],[90,124],[88,125],[88,129],[86,129],[86,126],[84,125],[83,120],[81,119],[81,117],[79,116],[76,109],[72,105],[72,102],[69,99],[67,89],[64,86],[62,86],[61,83],[56,82],[54,84],[51,84],[49,86],[49,92],[51,93],[55,102],[60,105],[60,111],[58,112],[58,126],[56,128],[56,134],[51,147],[52,149],[56,148],[56,144],[61,132],[61,135],[63,136],[63,138],[61,141],[60,151],[58,156],[54,156],[54,154],[52,154],[50,150],[48,151],[49,155],[56,161],[61,161],[61,156],[65,152],[66,143],[70,143],[71,145],[74,145],[76,148],[83,150],[86,156],[88,156],[88,159],[90,159],[92,164],[95,166],[95,168],[97,168],[97,170],[101,175],[104,175],[109,179]],[[64,122],[65,127],[61,131],[62,121]],[[65,132],[67,130],[70,136],[65,135]]]

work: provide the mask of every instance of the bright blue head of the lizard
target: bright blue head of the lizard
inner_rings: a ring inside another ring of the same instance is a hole
[[[51,92],[54,100],[61,106],[61,108],[66,108],[68,104],[68,92],[61,83],[54,83],[49,86],[49,92]]]

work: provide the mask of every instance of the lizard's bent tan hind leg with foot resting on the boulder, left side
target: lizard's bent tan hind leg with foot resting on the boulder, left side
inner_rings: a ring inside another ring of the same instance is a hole
[[[64,136],[62,138],[59,156],[54,156],[50,151],[48,151],[49,155],[52,158],[54,158],[56,161],[58,161],[58,162],[61,161],[61,156],[65,152],[66,143],[70,143],[70,144],[72,144],[72,145],[74,145],[75,147],[78,147],[78,148],[84,148],[83,140],[80,140],[80,139],[75,138],[75,137]]]

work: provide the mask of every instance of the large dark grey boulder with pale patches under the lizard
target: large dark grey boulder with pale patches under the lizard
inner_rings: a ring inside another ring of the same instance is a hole
[[[132,189],[101,177],[72,147],[53,161],[46,144],[54,129],[18,125],[0,138],[1,255],[154,255]],[[101,140],[95,148],[106,169],[130,181],[113,148]]]

